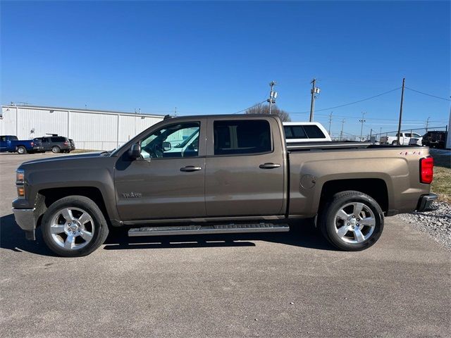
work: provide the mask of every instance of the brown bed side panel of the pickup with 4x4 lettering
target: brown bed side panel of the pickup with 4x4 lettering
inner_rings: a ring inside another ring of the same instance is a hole
[[[430,189],[429,184],[419,182],[419,160],[428,154],[427,148],[419,147],[291,152],[289,214],[316,215],[321,190],[328,181],[366,178],[385,182],[388,210],[414,211],[419,197]],[[309,187],[301,180],[315,183]]]

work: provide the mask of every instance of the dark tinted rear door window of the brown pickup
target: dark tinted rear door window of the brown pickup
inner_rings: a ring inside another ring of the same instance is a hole
[[[266,120],[214,121],[214,154],[259,154],[271,151],[271,128]]]

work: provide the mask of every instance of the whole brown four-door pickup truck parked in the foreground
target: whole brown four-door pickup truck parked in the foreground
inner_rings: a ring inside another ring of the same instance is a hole
[[[181,144],[180,140],[189,141]],[[163,120],[114,151],[28,161],[13,211],[61,256],[84,256],[109,227],[129,236],[285,232],[314,218],[338,249],[373,245],[384,217],[428,211],[427,148],[285,143],[273,115]]]

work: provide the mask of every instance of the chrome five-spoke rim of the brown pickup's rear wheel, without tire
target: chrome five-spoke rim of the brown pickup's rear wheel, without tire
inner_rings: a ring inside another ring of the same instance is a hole
[[[335,214],[335,232],[343,242],[362,243],[371,237],[376,218],[369,206],[360,202],[345,204]]]

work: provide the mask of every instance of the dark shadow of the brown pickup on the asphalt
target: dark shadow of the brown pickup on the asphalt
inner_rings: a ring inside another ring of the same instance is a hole
[[[297,225],[297,226],[296,226]],[[106,239],[105,250],[177,249],[231,246],[257,246],[254,241],[272,242],[311,249],[335,250],[310,221],[292,225],[290,232],[262,232],[254,234],[198,234],[183,236],[128,237],[128,228],[112,228]],[[40,229],[36,241],[28,241],[16,225],[14,216],[0,218],[0,247],[11,251],[30,252],[42,256],[56,256],[47,249]]]

